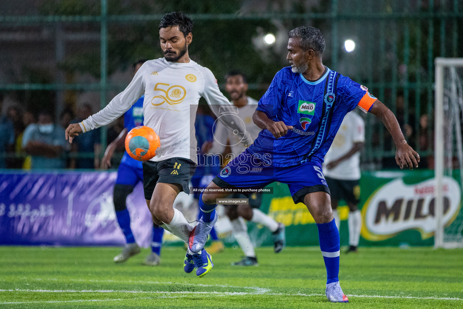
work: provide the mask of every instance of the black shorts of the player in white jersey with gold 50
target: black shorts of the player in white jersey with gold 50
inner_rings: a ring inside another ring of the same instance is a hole
[[[178,183],[180,191],[190,194],[188,182],[194,175],[196,164],[187,158],[170,158],[154,162],[143,162],[143,189],[146,200],[150,200],[156,183]]]

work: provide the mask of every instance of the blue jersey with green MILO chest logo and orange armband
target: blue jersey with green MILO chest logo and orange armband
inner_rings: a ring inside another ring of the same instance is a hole
[[[345,114],[357,106],[368,112],[374,101],[366,87],[328,68],[315,82],[293,73],[291,67],[283,68],[259,100],[257,110],[294,129],[279,139],[262,130],[249,151],[267,156],[278,167],[308,161],[321,164]]]

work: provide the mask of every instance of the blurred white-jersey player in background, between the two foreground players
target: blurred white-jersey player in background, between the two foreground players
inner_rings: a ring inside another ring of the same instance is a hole
[[[246,95],[248,83],[244,74],[238,71],[232,71],[225,76],[225,90],[230,95],[233,105],[237,107],[237,115],[241,120],[243,120],[244,126],[246,126],[246,131],[250,133],[253,139],[256,139],[259,132],[262,131],[262,129],[256,126],[252,121],[252,115],[256,111],[258,102]],[[239,138],[236,134],[230,131],[222,123],[217,123],[214,131],[212,148],[208,152],[213,154],[225,154],[224,151],[226,145],[229,145],[232,150],[232,153],[230,154],[232,158],[228,159],[238,157],[238,155],[246,149],[246,147],[239,142]],[[232,222],[233,235],[245,255],[241,261],[232,263],[232,265],[258,265],[256,251],[249,239],[248,228],[243,218],[268,227],[272,232],[275,253],[281,252],[286,245],[285,226],[282,223],[276,222],[273,218],[264,214],[259,209],[262,203],[262,195],[250,194],[244,196],[242,194],[235,193],[229,197],[240,199],[249,198],[248,205],[225,205],[225,213]]]

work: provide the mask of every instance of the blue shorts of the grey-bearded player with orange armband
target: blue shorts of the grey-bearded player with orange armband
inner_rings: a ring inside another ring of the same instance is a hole
[[[248,150],[227,164],[213,180],[220,188],[263,188],[275,181],[288,184],[294,203],[304,202],[308,193],[321,191],[330,194],[318,162],[277,167]]]

